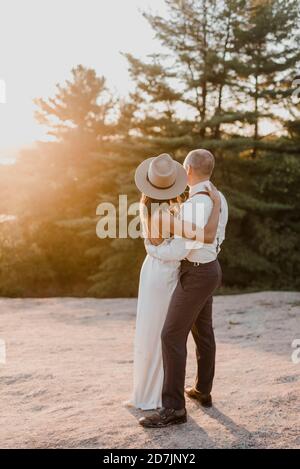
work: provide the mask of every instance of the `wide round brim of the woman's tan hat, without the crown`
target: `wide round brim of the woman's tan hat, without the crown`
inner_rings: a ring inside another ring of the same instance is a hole
[[[153,161],[156,157],[153,156],[151,158],[147,158],[146,160],[142,161],[142,163],[137,167],[135,171],[135,184],[140,192],[147,195],[148,197],[152,197],[153,199],[157,200],[169,200],[174,199],[178,195],[182,194],[187,186],[187,174],[184,167],[178,163],[178,161],[174,161],[177,167],[177,174],[176,180],[172,187],[168,189],[158,189],[150,183],[147,179],[148,169],[150,166],[151,161]]]

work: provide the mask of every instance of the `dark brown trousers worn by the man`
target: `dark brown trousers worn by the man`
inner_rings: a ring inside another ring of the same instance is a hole
[[[164,383],[162,405],[185,407],[186,343],[192,331],[196,343],[196,389],[209,394],[215,372],[216,345],[212,326],[212,295],[221,283],[218,260],[195,266],[182,261],[162,330]]]

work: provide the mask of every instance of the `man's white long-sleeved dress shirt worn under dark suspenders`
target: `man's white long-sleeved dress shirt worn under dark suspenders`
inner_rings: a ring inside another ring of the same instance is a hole
[[[213,202],[206,194],[197,194],[197,192],[206,192],[206,187],[209,184],[210,182],[207,180],[191,186],[190,197],[182,204],[180,210],[180,217],[183,220],[193,222],[201,228],[204,228],[208,222],[213,208]],[[159,246],[147,243],[146,249],[148,254],[165,261],[188,259],[190,262],[199,262],[200,264],[214,261],[225,239],[225,229],[228,221],[228,205],[221,192],[220,196],[221,213],[213,243],[201,243],[187,240],[186,238],[175,237],[174,239],[164,241]]]

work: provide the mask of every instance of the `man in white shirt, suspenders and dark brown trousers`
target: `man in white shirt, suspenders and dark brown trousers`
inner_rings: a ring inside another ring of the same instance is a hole
[[[214,169],[214,156],[207,150],[191,151],[184,162],[190,187],[189,199],[183,204],[183,220],[206,225],[213,203],[205,188]],[[186,368],[186,342],[192,331],[196,343],[197,377],[195,386],[186,389],[190,398],[201,405],[212,405],[211,389],[215,371],[215,338],[212,326],[212,295],[221,283],[221,268],[217,260],[225,239],[228,206],[220,193],[220,218],[215,240],[211,244],[174,239],[163,246],[151,246],[148,252],[154,257],[168,258],[176,245],[180,250],[181,270],[177,287],[171,298],[167,318],[162,330],[162,355],[164,384],[162,403],[164,412],[141,419],[146,427],[162,427],[182,423],[186,416],[184,380]],[[199,210],[202,217],[199,217]],[[199,218],[200,223],[199,223]]]

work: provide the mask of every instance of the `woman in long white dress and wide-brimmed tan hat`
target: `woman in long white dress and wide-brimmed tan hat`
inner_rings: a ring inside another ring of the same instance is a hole
[[[169,176],[172,173],[170,171],[172,166],[175,167],[176,176],[170,191],[172,180]],[[141,173],[144,173],[142,184]],[[168,175],[168,177],[164,180],[162,175]],[[145,180],[149,183],[146,191]],[[134,383],[130,404],[138,409],[150,410],[162,405],[161,391],[164,373],[160,335],[169,302],[177,284],[180,260],[186,255],[182,238],[173,239],[170,243],[170,236],[182,236],[183,233],[183,236],[189,239],[212,242],[217,230],[219,209],[213,208],[204,230],[198,229],[193,224],[184,223],[183,227],[180,218],[174,216],[173,206],[174,198],[182,194],[186,188],[186,173],[179,163],[166,154],[145,160],[136,172],[136,184],[144,189],[141,198],[141,223],[146,238],[146,250],[151,240],[155,244],[169,244],[168,260],[162,261],[147,255],[140,273],[134,343]],[[207,189],[207,195],[210,195],[214,201],[216,189],[214,187]],[[145,192],[150,195],[145,195]],[[165,220],[169,222],[169,233],[162,230]]]

